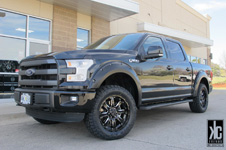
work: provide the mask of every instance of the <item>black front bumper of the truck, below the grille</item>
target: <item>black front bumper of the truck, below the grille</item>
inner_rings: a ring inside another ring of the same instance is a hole
[[[21,94],[31,96],[29,105],[21,103]],[[94,91],[57,91],[17,88],[14,93],[18,105],[29,109],[49,110],[50,112],[78,112],[88,113],[92,109]],[[71,96],[77,96],[78,102],[70,101]]]

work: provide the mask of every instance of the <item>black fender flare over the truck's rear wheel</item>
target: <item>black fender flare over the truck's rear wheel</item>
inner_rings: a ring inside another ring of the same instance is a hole
[[[194,81],[193,97],[196,97],[198,95],[199,85],[200,85],[200,82],[203,78],[205,78],[208,81],[208,76],[207,76],[206,72],[204,72],[204,71],[198,72],[198,75],[196,76],[195,81]],[[209,82],[207,82],[207,84],[208,84],[207,89],[209,89]]]

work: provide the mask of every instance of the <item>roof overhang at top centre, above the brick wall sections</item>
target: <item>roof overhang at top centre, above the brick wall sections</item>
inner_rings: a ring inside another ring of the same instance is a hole
[[[39,0],[76,10],[107,21],[139,13],[139,3],[132,0]]]

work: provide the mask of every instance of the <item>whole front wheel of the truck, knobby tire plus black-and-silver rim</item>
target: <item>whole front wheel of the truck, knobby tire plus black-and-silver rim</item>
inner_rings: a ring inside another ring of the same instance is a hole
[[[114,140],[124,137],[136,119],[133,96],[123,87],[108,85],[97,91],[91,113],[86,115],[87,129],[96,137]]]

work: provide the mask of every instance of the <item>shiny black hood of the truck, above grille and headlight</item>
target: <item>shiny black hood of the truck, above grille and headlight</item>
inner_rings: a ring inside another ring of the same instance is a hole
[[[26,59],[54,57],[55,59],[116,59],[136,56],[135,50],[73,50],[66,52],[52,52],[48,54],[29,56]]]

